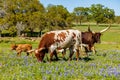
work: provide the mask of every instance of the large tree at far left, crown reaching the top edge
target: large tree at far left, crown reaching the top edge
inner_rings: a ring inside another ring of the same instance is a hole
[[[44,13],[45,8],[39,2],[39,0],[1,0],[0,8],[6,12],[0,20],[1,25],[8,24],[8,29],[16,29],[19,32],[20,26],[24,26],[24,29],[33,31],[36,27],[36,22],[33,16],[34,13]],[[18,24],[20,24],[18,29]],[[39,23],[39,22],[38,22]],[[26,26],[25,26],[26,25]],[[21,30],[24,30],[21,29]]]

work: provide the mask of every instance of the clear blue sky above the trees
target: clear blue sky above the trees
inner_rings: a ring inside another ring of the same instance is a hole
[[[40,0],[44,7],[49,4],[63,5],[69,12],[76,7],[90,7],[92,4],[102,4],[115,11],[116,16],[120,16],[120,0]]]

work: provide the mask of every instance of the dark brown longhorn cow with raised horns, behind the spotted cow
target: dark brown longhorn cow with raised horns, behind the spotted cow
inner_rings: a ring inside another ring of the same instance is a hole
[[[94,44],[101,42],[100,38],[102,33],[107,31],[109,28],[110,26],[101,30],[100,32],[93,32],[92,30],[90,30],[90,27],[88,27],[88,31],[82,32],[82,43],[88,45],[88,48],[85,47],[85,51],[93,51],[93,53],[96,53]]]

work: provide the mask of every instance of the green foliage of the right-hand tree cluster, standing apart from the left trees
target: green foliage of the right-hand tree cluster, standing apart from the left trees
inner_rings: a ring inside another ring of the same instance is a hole
[[[76,23],[95,21],[99,23],[113,23],[115,13],[113,9],[104,7],[101,4],[92,4],[90,7],[74,8]]]

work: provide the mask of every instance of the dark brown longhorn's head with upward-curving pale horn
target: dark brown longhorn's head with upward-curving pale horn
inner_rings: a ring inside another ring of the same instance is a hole
[[[109,28],[110,28],[110,26],[101,30],[100,32],[93,32],[90,30],[90,27],[88,27],[88,32],[90,32],[92,34],[92,39],[94,40],[94,43],[100,43],[101,42],[100,37],[101,37],[102,33],[107,31]]]

